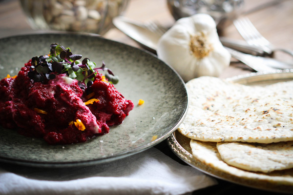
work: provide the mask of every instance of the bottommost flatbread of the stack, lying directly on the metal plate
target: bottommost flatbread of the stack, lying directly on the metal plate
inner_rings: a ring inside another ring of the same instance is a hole
[[[271,173],[254,173],[245,170],[238,169],[225,163],[220,154],[218,153],[215,142],[202,142],[197,140],[190,141],[190,147],[192,149],[192,155],[200,160],[203,164],[209,167],[209,172],[217,175],[229,178],[229,176],[236,176],[233,178],[237,182],[241,182],[241,179],[254,180],[258,183],[274,183],[274,185],[287,185],[293,186],[293,169],[284,171],[275,171]]]

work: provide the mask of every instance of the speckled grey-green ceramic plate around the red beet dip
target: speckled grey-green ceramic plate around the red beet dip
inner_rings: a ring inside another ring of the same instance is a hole
[[[50,146],[0,126],[0,161],[38,167],[94,165],[136,154],[167,138],[186,115],[188,96],[183,80],[167,64],[137,48],[84,34],[34,34],[0,39],[0,78],[16,75],[33,56],[49,53],[51,43],[75,54],[105,61],[120,81],[116,86],[135,104],[121,125],[104,136],[72,145]],[[138,106],[139,99],[145,104]],[[180,101],[178,101],[180,99]]]

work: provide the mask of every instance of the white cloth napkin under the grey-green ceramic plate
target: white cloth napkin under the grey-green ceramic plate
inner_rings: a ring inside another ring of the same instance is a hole
[[[1,195],[181,195],[217,184],[156,148],[90,167],[0,166]]]

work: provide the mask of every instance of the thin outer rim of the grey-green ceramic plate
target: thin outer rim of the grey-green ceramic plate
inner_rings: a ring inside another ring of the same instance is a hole
[[[161,59],[158,59],[158,57],[145,50],[145,49],[141,49],[141,48],[137,48],[131,45],[127,45],[126,43],[123,42],[119,42],[116,40],[111,40],[111,39],[106,39],[104,37],[102,37],[101,35],[98,34],[91,34],[91,33],[77,33],[77,32],[62,32],[62,31],[36,31],[34,33],[24,33],[24,34],[19,34],[19,35],[13,35],[13,36],[7,36],[7,37],[2,37],[0,38],[1,40],[4,39],[13,39],[13,38],[21,38],[21,37],[28,37],[28,36],[34,36],[34,35],[40,35],[40,36],[46,36],[46,35],[69,35],[69,36],[83,36],[83,37],[93,37],[94,39],[102,39],[104,41],[110,42],[110,43],[115,43],[118,45],[122,45],[123,47],[127,47],[127,48],[131,48],[133,50],[137,50],[143,53],[146,53],[147,55],[152,56],[153,58],[156,58],[157,60],[161,61],[162,63],[165,64],[165,66],[167,68],[169,68],[170,70],[172,70],[172,72],[174,72],[174,74],[179,78],[180,82],[183,84],[183,86],[185,87],[185,82],[183,81],[183,79],[179,76],[179,74],[174,70],[173,67],[171,67],[170,65],[168,65],[166,62],[162,61]],[[67,167],[79,167],[79,166],[91,166],[91,165],[96,165],[96,164],[100,164],[100,163],[106,163],[106,162],[110,162],[110,161],[114,161],[114,160],[118,160],[118,159],[122,159],[125,158],[127,156],[132,156],[138,153],[141,153],[153,146],[155,146],[156,144],[159,144],[160,142],[162,142],[163,140],[167,139],[167,137],[169,137],[174,131],[176,131],[176,129],[179,127],[179,125],[183,122],[184,118],[187,115],[187,110],[188,110],[188,105],[189,105],[189,98],[188,98],[188,92],[187,89],[185,87],[185,92],[186,92],[186,107],[184,108],[184,112],[181,113],[180,115],[180,119],[174,123],[174,125],[172,126],[172,128],[170,128],[170,130],[168,132],[166,132],[164,135],[162,135],[161,137],[155,139],[154,141],[148,142],[145,145],[142,145],[140,147],[137,148],[133,148],[132,150],[128,150],[125,151],[123,153],[117,154],[116,156],[108,156],[108,157],[100,157],[100,158],[95,158],[95,159],[88,159],[88,160],[78,160],[78,161],[70,161],[70,162],[43,162],[43,161],[35,161],[35,160],[27,160],[27,159],[21,159],[21,158],[13,158],[13,157],[5,157],[5,156],[0,156],[0,162],[1,163],[9,163],[9,164],[16,164],[16,165],[22,165],[22,166],[33,166],[33,167],[42,167],[42,168],[67,168]],[[114,158],[114,159],[113,159]]]

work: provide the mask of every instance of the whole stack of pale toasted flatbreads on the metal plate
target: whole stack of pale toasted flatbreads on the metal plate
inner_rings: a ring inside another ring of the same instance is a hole
[[[238,177],[293,186],[293,81],[246,86],[201,77],[187,84],[178,131],[192,155]]]

